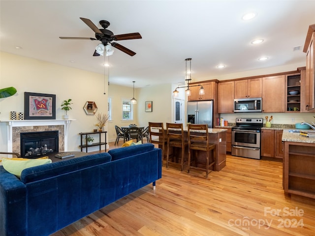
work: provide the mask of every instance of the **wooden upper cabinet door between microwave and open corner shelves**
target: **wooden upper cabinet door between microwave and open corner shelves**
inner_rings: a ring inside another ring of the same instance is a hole
[[[285,76],[262,78],[262,112],[285,112]]]

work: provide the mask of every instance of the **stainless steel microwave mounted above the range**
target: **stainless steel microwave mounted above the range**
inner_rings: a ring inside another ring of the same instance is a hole
[[[234,99],[234,112],[262,112],[261,97]]]

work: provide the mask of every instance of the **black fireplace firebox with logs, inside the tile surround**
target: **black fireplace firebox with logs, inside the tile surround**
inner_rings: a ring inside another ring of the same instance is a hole
[[[59,152],[59,131],[20,133],[21,156],[37,158]]]

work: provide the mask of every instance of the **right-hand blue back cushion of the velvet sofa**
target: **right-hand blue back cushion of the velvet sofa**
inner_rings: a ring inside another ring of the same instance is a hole
[[[124,148],[111,149],[108,151],[108,154],[112,156],[112,161],[115,161],[128,156],[133,156],[143,152],[151,151],[153,149],[154,149],[153,144],[140,144]]]

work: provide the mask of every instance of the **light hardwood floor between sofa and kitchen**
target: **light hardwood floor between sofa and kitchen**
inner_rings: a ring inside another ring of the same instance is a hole
[[[227,155],[206,179],[202,171],[181,173],[179,164],[166,169],[164,161],[156,190],[147,185],[53,234],[214,235],[314,236],[315,200],[284,195],[281,162]]]

